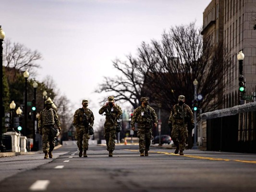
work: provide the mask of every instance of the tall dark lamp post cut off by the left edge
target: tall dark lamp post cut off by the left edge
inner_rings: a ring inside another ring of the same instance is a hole
[[[2,143],[2,118],[4,117],[4,107],[3,107],[3,39],[4,39],[5,33],[3,32],[1,25],[0,25],[0,109],[1,109],[1,116],[0,116],[0,152],[5,152],[6,148]]]

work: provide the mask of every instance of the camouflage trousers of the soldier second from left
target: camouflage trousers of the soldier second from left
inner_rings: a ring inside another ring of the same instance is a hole
[[[88,150],[88,140],[90,135],[88,129],[84,127],[76,127],[75,139],[79,150]]]

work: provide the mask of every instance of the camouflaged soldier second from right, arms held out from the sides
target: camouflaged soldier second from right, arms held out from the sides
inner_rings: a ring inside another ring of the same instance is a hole
[[[148,106],[148,98],[141,97],[141,106],[134,110],[131,121],[132,130],[135,131],[135,122],[138,123],[138,138],[140,156],[148,156],[149,146],[151,144],[152,127],[157,127],[158,117],[155,110]]]

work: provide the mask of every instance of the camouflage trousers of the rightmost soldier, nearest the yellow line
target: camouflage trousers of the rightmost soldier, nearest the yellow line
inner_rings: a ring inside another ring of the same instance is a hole
[[[179,146],[180,150],[185,149],[186,140],[188,138],[188,131],[186,125],[173,125],[171,132],[171,139],[176,146]]]

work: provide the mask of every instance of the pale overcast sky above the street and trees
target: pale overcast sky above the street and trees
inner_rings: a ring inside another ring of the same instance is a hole
[[[5,38],[42,54],[38,81],[52,76],[74,110],[88,99],[99,119],[99,98],[108,95],[93,92],[103,76],[116,75],[112,60],[135,55],[171,26],[201,27],[210,1],[1,0],[0,25]]]

